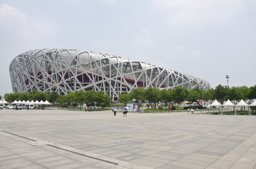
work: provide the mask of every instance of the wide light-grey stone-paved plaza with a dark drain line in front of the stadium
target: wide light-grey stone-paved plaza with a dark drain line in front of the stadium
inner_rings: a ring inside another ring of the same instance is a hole
[[[0,110],[1,169],[256,169],[256,116]]]

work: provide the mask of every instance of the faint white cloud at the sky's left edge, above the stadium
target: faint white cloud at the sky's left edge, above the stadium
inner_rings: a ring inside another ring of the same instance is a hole
[[[59,30],[57,24],[47,19],[28,19],[24,12],[20,12],[8,4],[0,6],[0,22],[4,23],[0,26],[0,35],[9,40],[18,38],[20,41],[28,42],[48,39],[49,36],[56,35]]]

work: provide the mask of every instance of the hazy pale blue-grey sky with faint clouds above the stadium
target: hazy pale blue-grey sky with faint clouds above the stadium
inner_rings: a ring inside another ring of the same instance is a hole
[[[211,87],[254,86],[255,0],[0,0],[0,95],[11,61],[78,49],[155,64]]]

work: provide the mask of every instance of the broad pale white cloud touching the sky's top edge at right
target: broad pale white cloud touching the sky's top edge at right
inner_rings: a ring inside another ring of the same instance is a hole
[[[151,7],[165,12],[167,25],[214,25],[232,21],[243,8],[241,0],[152,0]]]

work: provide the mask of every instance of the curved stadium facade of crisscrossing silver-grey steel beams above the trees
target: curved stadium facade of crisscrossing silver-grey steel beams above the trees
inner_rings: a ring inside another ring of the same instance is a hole
[[[73,49],[27,51],[12,60],[9,70],[14,93],[94,90],[104,91],[114,101],[135,87],[210,88],[202,79],[149,63]]]

